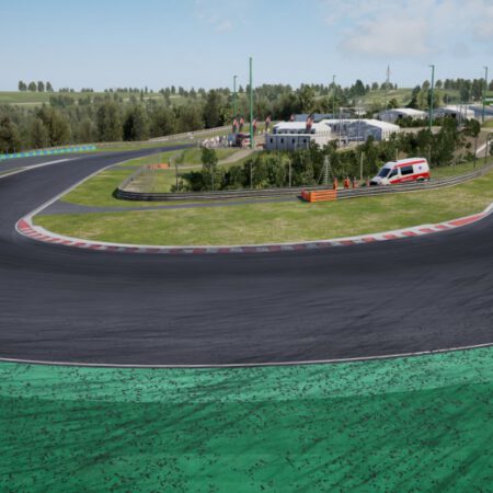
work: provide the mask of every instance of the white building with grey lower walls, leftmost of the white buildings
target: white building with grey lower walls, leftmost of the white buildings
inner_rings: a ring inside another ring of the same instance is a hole
[[[325,146],[332,138],[331,128],[325,124],[314,123],[308,128],[306,122],[282,122],[265,136],[265,149],[308,149],[311,142]]]

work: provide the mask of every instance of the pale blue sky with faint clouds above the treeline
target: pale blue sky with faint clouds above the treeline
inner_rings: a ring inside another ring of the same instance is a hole
[[[493,76],[493,0],[0,0],[0,90]]]

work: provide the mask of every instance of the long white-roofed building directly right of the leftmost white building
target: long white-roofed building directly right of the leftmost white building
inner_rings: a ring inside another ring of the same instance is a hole
[[[334,139],[341,139],[344,142],[364,142],[369,136],[372,136],[375,140],[388,140],[392,134],[401,131],[399,125],[379,119],[323,119],[321,124],[331,128]]]

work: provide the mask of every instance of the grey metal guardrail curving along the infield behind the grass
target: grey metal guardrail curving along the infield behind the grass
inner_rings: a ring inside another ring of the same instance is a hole
[[[428,182],[414,182],[410,184],[388,185],[388,186],[369,186],[360,188],[339,190],[337,199],[368,197],[376,195],[395,194],[403,192],[417,192],[424,190],[443,188],[468,182],[475,177],[482,176],[493,169],[493,163],[470,173],[460,174]],[[126,190],[146,168],[139,168],[130,176],[128,176],[117,188],[118,198],[126,200],[148,200],[148,202],[193,202],[193,200],[231,200],[243,198],[280,198],[280,197],[298,197],[301,191],[324,190],[324,186],[299,186],[290,188],[264,188],[264,190],[231,190],[219,192],[185,192],[185,193],[149,193],[149,192],[131,192]]]

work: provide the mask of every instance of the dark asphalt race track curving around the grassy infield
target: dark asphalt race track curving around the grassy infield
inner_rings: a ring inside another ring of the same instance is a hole
[[[211,366],[493,342],[493,216],[398,241],[203,256],[85,251],[14,230],[90,173],[149,152],[66,156],[0,179],[0,358]]]

